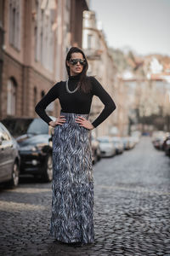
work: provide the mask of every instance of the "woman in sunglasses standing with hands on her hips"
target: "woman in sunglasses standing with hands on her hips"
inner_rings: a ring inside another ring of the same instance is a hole
[[[69,79],[60,81],[37,103],[37,114],[54,127],[53,195],[50,236],[66,243],[94,242],[94,177],[90,131],[116,108],[111,96],[94,77],[86,75],[88,61],[81,49],[72,47],[65,60]],[[99,96],[105,108],[89,122],[93,96]],[[55,121],[45,112],[59,98],[61,112]]]

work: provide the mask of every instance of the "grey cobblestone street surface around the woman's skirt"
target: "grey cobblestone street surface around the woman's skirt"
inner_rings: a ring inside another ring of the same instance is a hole
[[[95,243],[48,236],[51,183],[22,179],[0,190],[0,255],[170,256],[170,159],[149,137],[94,166]]]

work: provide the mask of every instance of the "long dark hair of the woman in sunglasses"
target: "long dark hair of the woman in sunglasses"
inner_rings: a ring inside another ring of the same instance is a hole
[[[80,90],[82,90],[82,92],[89,93],[91,88],[92,88],[92,86],[91,86],[90,80],[89,80],[89,78],[88,78],[88,76],[86,74],[87,71],[88,71],[88,60],[86,58],[86,55],[84,55],[82,49],[80,49],[80,48],[71,47],[71,49],[68,51],[68,53],[66,55],[65,67],[66,67],[68,76],[71,75],[71,72],[70,72],[70,67],[67,66],[67,61],[71,60],[71,54],[73,54],[75,52],[81,53],[83,58],[85,59],[85,64],[83,65],[82,73],[80,73],[79,88],[80,88]]]

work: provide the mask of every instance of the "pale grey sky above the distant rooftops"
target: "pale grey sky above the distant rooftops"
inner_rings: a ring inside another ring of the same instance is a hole
[[[170,0],[90,0],[109,47],[170,56]]]

